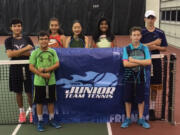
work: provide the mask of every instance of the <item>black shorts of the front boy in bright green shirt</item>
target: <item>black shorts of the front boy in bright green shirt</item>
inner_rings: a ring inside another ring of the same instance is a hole
[[[49,98],[46,99],[46,86],[35,86],[34,88],[34,103],[47,104],[56,101],[56,85],[49,85]]]

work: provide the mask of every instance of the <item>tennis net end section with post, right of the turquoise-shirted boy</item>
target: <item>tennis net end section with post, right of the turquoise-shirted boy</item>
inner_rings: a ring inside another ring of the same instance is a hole
[[[152,91],[153,87],[156,89],[154,120],[168,120],[170,123],[174,123],[176,55],[152,55],[152,60],[154,59],[161,59],[161,62],[157,63],[156,66],[162,67],[162,70],[156,71],[158,72],[157,74],[162,75],[159,76],[162,79],[162,83],[152,86],[150,90]],[[151,97],[150,104],[152,104]]]

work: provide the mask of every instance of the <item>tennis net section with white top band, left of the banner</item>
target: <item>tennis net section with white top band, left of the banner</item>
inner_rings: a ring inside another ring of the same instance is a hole
[[[14,73],[18,76],[21,74],[18,73],[18,67],[22,69],[23,76],[25,76],[25,66],[28,66],[28,60],[1,60],[0,61],[0,124],[16,124],[18,123],[18,117],[19,117],[19,109],[18,105],[16,103],[16,94],[14,92],[10,92],[10,67],[14,68]],[[11,73],[13,75],[13,73]],[[16,78],[14,78],[14,81],[18,82]],[[24,78],[26,79],[26,78]],[[31,85],[31,84],[29,84]],[[23,87],[24,89],[24,87]],[[28,108],[28,102],[27,102],[27,96],[23,92],[23,104],[25,109]]]

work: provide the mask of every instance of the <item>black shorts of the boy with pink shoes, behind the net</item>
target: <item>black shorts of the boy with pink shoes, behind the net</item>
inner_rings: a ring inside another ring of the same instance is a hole
[[[29,65],[11,65],[9,74],[10,91],[22,93],[32,93],[32,73],[29,71]]]

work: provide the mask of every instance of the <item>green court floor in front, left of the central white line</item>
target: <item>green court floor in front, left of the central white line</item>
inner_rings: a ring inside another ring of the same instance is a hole
[[[1,125],[0,134],[2,135],[108,135],[106,124],[81,123],[63,124],[62,128],[55,129],[49,125],[45,126],[44,132],[38,132],[36,125],[22,124],[15,132],[17,125]]]

